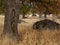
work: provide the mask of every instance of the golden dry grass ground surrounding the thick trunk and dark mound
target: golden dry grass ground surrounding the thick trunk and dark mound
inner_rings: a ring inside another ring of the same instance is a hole
[[[60,45],[60,30],[37,31],[32,28],[33,22],[36,22],[37,19],[25,20],[27,23],[18,24],[20,42],[15,43],[15,41],[5,37],[3,40],[0,39],[0,45]],[[4,16],[0,16],[0,34],[3,30],[3,24]]]

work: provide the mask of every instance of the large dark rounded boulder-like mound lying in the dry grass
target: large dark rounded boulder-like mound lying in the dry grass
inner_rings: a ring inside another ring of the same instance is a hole
[[[41,30],[41,29],[53,30],[53,29],[59,29],[59,28],[60,28],[60,24],[48,19],[38,21],[33,24],[33,29],[36,29],[36,30]]]

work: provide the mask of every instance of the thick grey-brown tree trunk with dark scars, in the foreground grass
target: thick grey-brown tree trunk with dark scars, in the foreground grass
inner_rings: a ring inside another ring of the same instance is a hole
[[[17,30],[18,20],[19,20],[19,1],[17,0],[5,0],[6,12],[4,29],[2,35],[5,36],[9,34],[9,37],[16,38],[19,40],[19,34]]]

